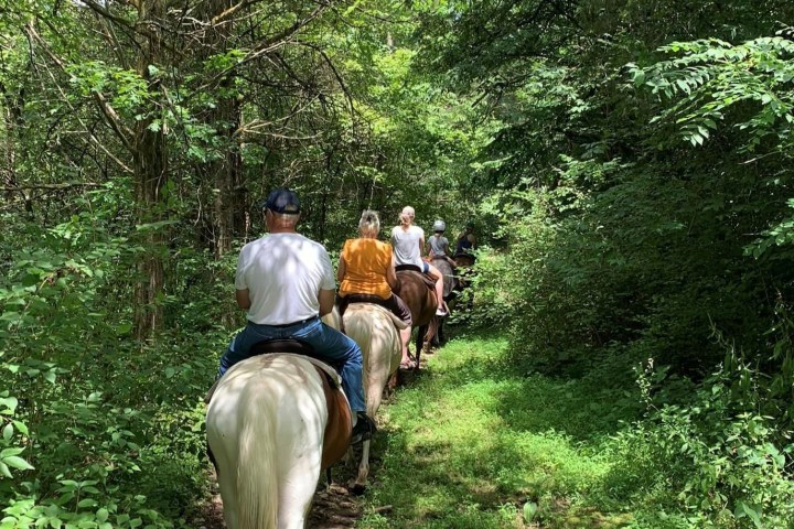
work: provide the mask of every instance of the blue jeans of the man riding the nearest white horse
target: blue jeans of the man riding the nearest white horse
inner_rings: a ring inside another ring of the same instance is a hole
[[[248,322],[221,357],[218,377],[238,361],[253,356],[250,348],[254,344],[266,339],[290,338],[311,345],[319,357],[341,363],[342,389],[347,396],[351,410],[354,412],[366,410],[362,385],[362,352],[358,344],[335,328],[329,327],[320,319],[288,327],[273,327]]]

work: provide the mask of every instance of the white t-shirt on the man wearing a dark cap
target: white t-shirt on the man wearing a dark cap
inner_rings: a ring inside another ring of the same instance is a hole
[[[320,290],[334,290],[325,248],[300,234],[269,234],[243,247],[235,288],[248,289],[248,321],[285,325],[320,313]]]

